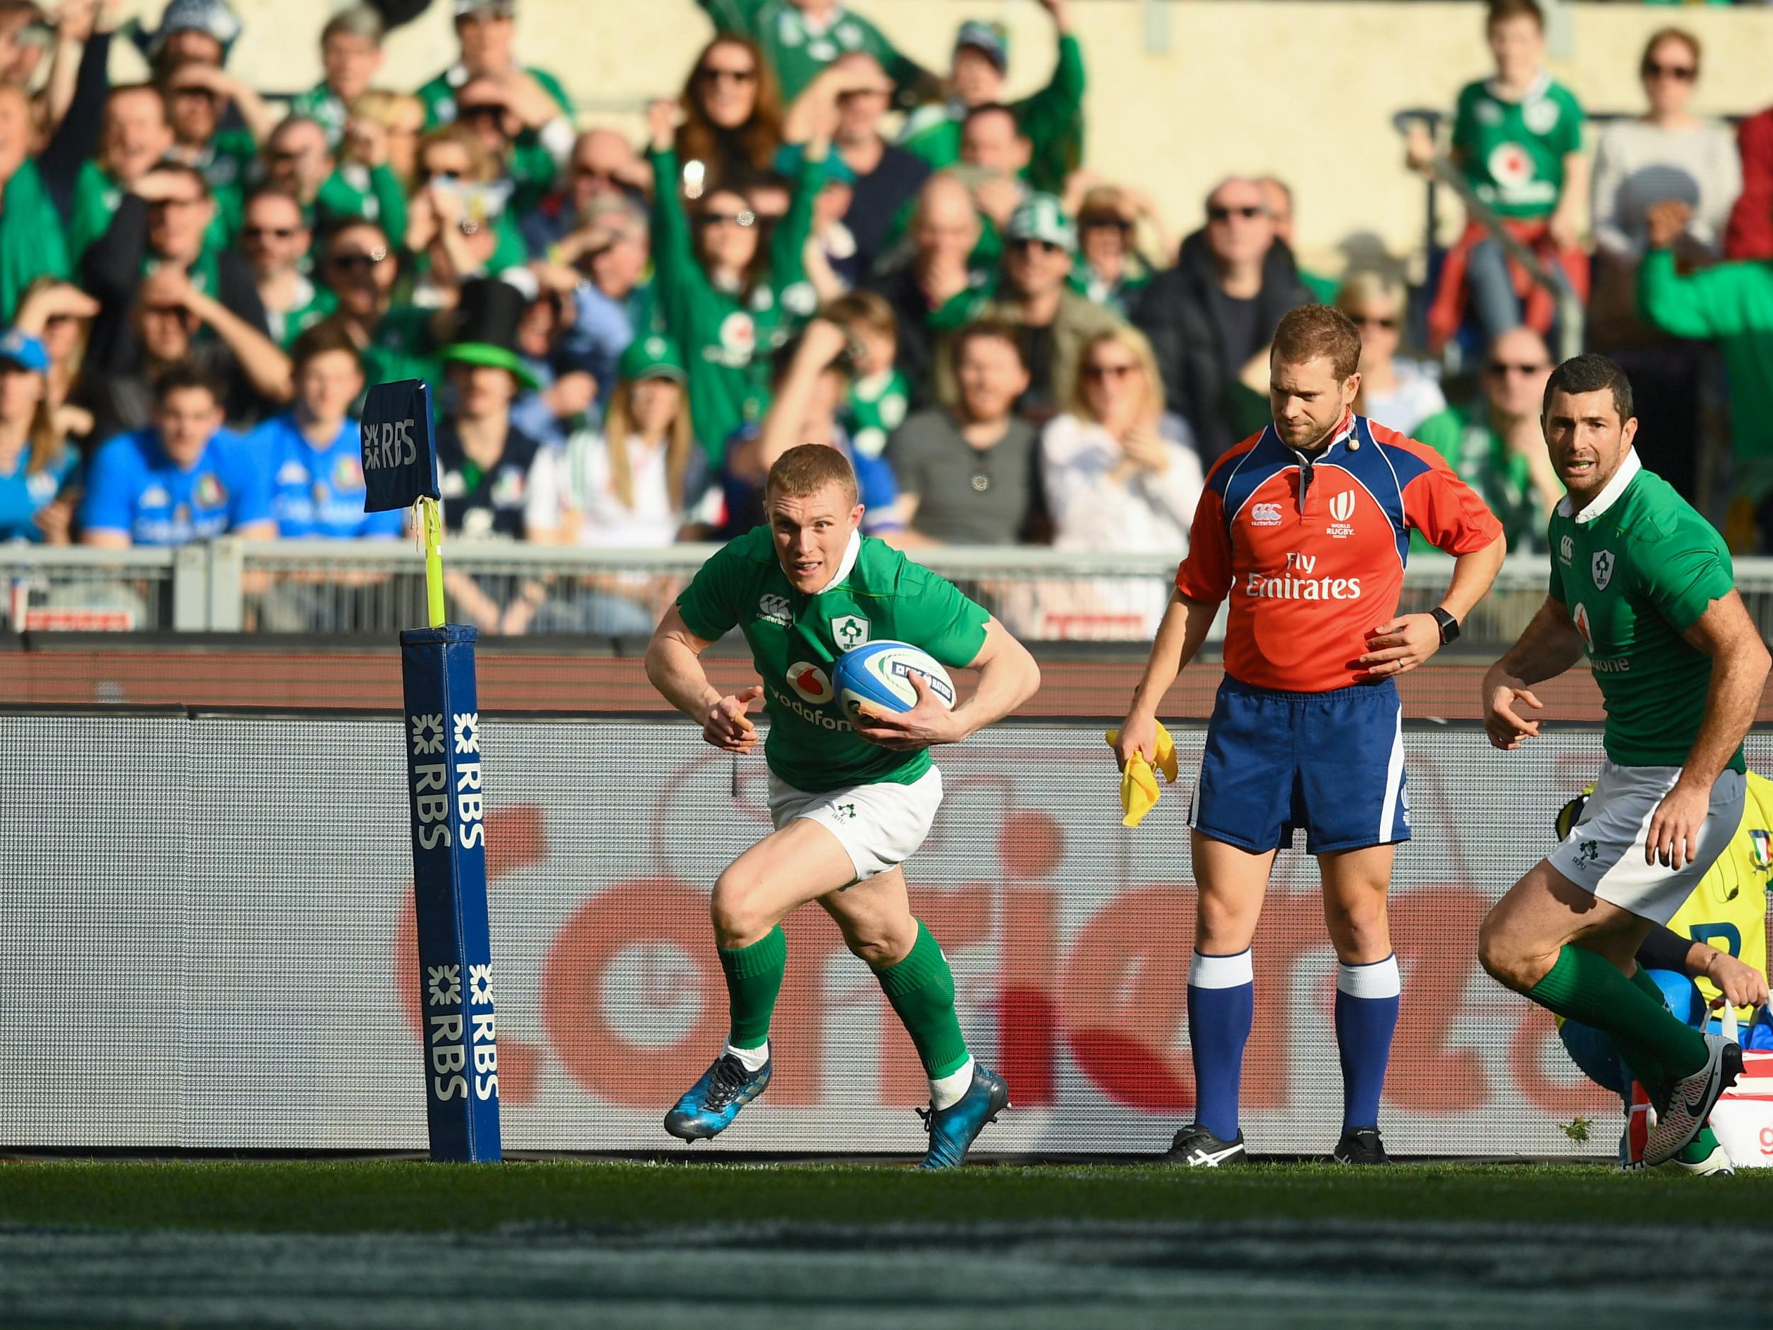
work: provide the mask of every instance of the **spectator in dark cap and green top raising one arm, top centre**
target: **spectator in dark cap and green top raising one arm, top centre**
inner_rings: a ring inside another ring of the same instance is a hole
[[[1035,190],[1058,193],[1083,156],[1083,48],[1071,32],[1066,0],[1041,0],[1058,30],[1058,64],[1044,89],[1011,103],[1032,153],[1023,174]],[[961,121],[973,106],[1004,98],[1009,41],[1000,25],[968,21],[954,39],[954,66],[940,105],[913,112],[901,142],[941,170],[961,160]]]

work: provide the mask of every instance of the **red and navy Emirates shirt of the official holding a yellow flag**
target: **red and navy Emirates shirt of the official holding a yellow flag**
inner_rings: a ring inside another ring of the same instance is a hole
[[[1438,452],[1360,415],[1316,458],[1273,426],[1222,456],[1195,509],[1175,587],[1230,596],[1225,672],[1321,693],[1365,677],[1367,633],[1397,614],[1410,528],[1452,555],[1502,534]]]

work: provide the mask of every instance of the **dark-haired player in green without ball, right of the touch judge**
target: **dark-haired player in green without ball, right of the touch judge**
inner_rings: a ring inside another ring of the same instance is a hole
[[[1532,686],[1587,651],[1606,766],[1569,835],[1484,919],[1477,954],[1516,993],[1612,1037],[1656,1105],[1645,1163],[1700,1163],[1743,1053],[1675,1020],[1633,958],[1736,835],[1768,649],[1723,537],[1638,461],[1624,371],[1566,360],[1541,420],[1569,493],[1551,514],[1546,603],[1484,676],[1484,729],[1519,748],[1539,732]]]

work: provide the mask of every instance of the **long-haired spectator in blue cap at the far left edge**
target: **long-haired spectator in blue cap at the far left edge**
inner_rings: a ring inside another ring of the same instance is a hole
[[[74,454],[48,403],[50,353],[30,333],[0,335],[0,543],[67,543],[62,486]]]

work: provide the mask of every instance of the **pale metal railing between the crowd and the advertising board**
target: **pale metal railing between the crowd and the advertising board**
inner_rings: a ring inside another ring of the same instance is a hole
[[[452,576],[472,578],[500,605],[539,608],[530,635],[644,637],[713,552],[569,550],[516,543],[450,543]],[[989,605],[1030,642],[1149,640],[1175,573],[1170,555],[1046,546],[941,546],[913,557]],[[1406,612],[1447,587],[1443,555],[1413,557]],[[1511,559],[1473,612],[1464,642],[1507,644],[1544,599],[1548,562]],[[1773,559],[1736,564],[1762,631],[1773,630]],[[300,635],[388,635],[426,617],[424,555],[404,541],[220,539],[179,550],[0,548],[0,628],[35,631],[181,630]],[[511,631],[507,628],[507,631]]]

